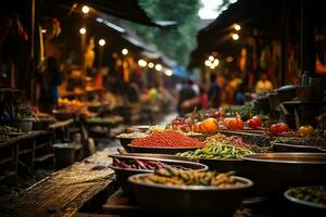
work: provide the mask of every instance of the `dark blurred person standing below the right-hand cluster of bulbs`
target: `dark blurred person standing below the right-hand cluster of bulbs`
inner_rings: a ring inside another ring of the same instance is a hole
[[[217,84],[216,74],[211,74],[210,76],[211,86],[208,91],[208,105],[209,107],[220,107],[221,105],[221,87]]]

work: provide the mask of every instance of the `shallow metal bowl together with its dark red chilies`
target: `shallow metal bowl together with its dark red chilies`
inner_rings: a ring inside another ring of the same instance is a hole
[[[154,169],[159,168],[178,168],[183,170],[196,170],[204,171],[209,167],[196,162],[176,159],[176,156],[168,158],[166,156],[135,156],[135,155],[109,155],[113,163],[110,165],[116,176],[117,183],[121,184],[124,192],[128,195],[133,195],[131,186],[128,182],[128,178],[136,174],[148,174],[153,173]]]

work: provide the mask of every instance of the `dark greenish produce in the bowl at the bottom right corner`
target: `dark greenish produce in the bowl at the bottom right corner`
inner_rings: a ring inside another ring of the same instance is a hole
[[[289,196],[326,206],[326,186],[312,186],[290,189]]]

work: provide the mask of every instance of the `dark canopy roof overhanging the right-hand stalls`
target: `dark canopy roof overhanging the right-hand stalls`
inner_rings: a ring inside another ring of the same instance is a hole
[[[325,24],[326,16],[323,12],[323,1],[311,0],[311,11],[314,23],[318,27]],[[281,37],[284,25],[283,15],[287,14],[289,22],[290,40],[299,42],[301,7],[300,1],[294,0],[238,0],[230,4],[214,22],[201,29],[197,36],[197,48],[191,52],[189,68],[200,66],[213,51],[223,51],[233,54],[240,40],[230,40],[234,24],[240,24],[242,36],[254,36],[261,39],[273,40]]]

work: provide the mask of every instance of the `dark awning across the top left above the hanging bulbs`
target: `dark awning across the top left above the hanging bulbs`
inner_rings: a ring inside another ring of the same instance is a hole
[[[35,5],[36,14],[43,15],[67,14],[70,11],[80,10],[83,5],[88,5],[99,12],[148,26],[171,27],[177,24],[174,21],[153,21],[147,15],[138,0],[35,0]],[[28,15],[30,9],[32,1],[12,0],[7,1],[0,11],[2,14]]]

